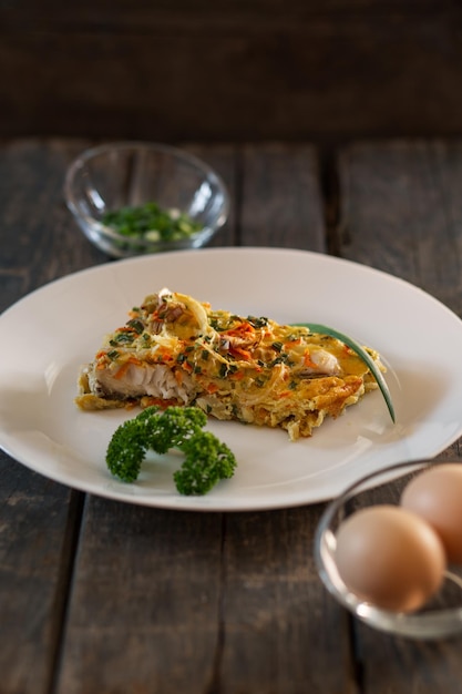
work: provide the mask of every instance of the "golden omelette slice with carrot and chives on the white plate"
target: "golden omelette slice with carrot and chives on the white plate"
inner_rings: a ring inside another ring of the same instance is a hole
[[[83,410],[195,405],[217,419],[281,427],[296,440],[377,388],[353,349],[308,327],[213,310],[168,289],[129,315],[81,369]],[[384,371],[378,353],[365,349]]]

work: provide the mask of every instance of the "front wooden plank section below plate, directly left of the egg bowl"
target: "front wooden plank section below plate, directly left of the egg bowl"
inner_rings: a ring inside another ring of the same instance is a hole
[[[322,508],[228,514],[214,691],[355,692],[347,619],[326,598],[312,559]]]

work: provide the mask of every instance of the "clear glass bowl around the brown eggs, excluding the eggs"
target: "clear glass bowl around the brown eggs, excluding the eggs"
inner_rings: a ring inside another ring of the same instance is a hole
[[[409,481],[430,466],[443,465],[432,460],[401,462],[380,472],[363,477],[351,484],[326,508],[315,535],[315,561],[327,590],[356,618],[379,631],[417,640],[454,636],[462,633],[462,567],[451,565],[442,588],[418,612],[390,612],[373,606],[351,593],[336,565],[336,532],[340,523],[359,509],[380,503],[399,503]],[[458,461],[458,465],[462,465]]]

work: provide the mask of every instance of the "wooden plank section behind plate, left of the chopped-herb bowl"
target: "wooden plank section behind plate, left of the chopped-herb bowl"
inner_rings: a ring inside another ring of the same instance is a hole
[[[65,170],[86,141],[0,147],[0,310],[37,287],[101,263],[64,204]]]

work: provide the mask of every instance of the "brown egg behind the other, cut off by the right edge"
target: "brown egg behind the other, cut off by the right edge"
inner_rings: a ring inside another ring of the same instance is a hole
[[[462,563],[462,463],[434,466],[414,477],[401,506],[433,527],[450,562]]]

